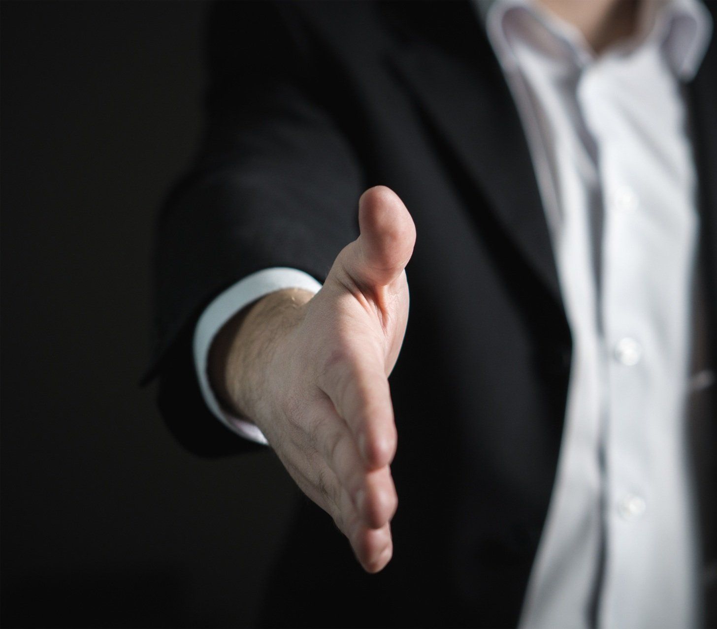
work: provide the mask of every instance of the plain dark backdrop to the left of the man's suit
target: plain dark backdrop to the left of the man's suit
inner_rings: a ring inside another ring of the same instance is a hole
[[[2,624],[251,625],[298,492],[185,453],[137,385],[209,7],[0,7]]]

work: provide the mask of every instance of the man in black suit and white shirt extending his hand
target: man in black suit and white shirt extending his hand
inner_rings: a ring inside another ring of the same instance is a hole
[[[300,507],[266,624],[714,622],[711,21],[216,9],[147,378],[192,451],[268,443],[331,516]]]

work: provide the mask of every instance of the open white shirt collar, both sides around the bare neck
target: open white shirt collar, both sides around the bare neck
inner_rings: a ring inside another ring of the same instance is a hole
[[[536,0],[472,0],[478,18],[488,30],[500,62],[516,63],[506,35],[506,17],[513,11],[527,11],[547,29],[559,45],[568,47],[576,62],[587,65],[594,59],[582,34],[571,24],[543,9]],[[635,36],[616,44],[612,52],[657,42],[670,69],[680,80],[694,77],[712,37],[712,17],[699,0],[642,0]]]

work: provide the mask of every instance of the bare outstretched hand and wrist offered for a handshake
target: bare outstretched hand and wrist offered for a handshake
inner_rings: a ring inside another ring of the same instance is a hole
[[[361,196],[359,226],[315,296],[267,295],[224,327],[210,376],[333,517],[364,569],[378,572],[393,552],[397,432],[388,376],[406,330],[404,267],[416,232],[384,186]]]

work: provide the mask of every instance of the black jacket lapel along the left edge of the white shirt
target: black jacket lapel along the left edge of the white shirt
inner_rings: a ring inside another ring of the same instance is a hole
[[[389,63],[518,253],[561,303],[528,144],[478,15],[467,2],[398,4],[411,10],[394,20],[404,45]]]

